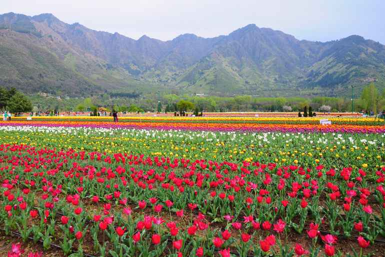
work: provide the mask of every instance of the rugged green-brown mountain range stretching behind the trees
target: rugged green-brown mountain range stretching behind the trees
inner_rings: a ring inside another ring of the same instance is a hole
[[[177,92],[230,96],[348,95],[385,87],[385,46],[352,35],[329,42],[249,24],[228,35],[161,41],[67,24],[52,14],[0,15],[0,85],[86,96]]]

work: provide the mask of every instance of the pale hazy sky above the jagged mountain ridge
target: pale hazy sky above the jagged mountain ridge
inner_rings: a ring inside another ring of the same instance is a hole
[[[49,12],[66,23],[169,40],[228,34],[250,23],[328,41],[358,34],[385,43],[385,0],[1,0],[0,13]]]

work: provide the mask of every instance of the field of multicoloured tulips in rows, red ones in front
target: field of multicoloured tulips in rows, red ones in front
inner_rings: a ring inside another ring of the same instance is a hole
[[[0,121],[1,256],[385,256],[383,122],[127,119]]]

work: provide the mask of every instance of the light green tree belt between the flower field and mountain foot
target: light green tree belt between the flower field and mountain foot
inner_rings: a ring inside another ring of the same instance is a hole
[[[3,89],[4,90],[4,89]],[[10,89],[12,91],[14,89]],[[9,97],[8,97],[9,98]],[[133,98],[114,98],[107,94],[83,99],[42,98],[29,96],[33,100],[33,111],[94,111],[105,107],[119,112],[303,112],[304,107],[322,112],[350,112],[351,99],[346,97],[252,97],[240,95],[234,97],[190,96],[163,94],[156,92]],[[183,107],[183,101],[185,107]],[[179,106],[178,106],[179,105]],[[183,107],[183,108],[180,108]],[[181,110],[182,109],[182,110]],[[354,112],[367,111],[377,113],[385,109],[385,90],[379,92],[374,83],[365,86],[359,97],[353,97]]]

